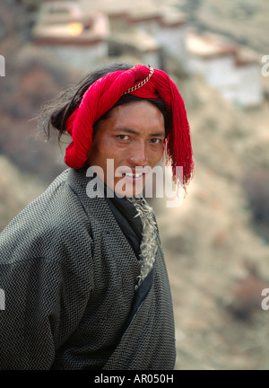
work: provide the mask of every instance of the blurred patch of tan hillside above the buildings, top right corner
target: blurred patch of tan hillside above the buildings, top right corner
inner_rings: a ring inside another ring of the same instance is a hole
[[[258,53],[269,52],[266,0],[175,0],[172,3],[187,14],[188,22],[198,31],[220,33]]]

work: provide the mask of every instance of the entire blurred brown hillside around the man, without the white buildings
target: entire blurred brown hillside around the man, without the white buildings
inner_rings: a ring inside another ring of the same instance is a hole
[[[0,9],[7,63],[0,78],[0,230],[65,169],[56,139],[44,143],[42,128],[29,120],[81,77],[30,45],[32,3],[4,1]],[[171,3],[191,29],[221,32],[269,54],[267,2]],[[176,368],[268,369],[261,290],[269,287],[269,102],[242,110],[197,76],[174,79],[187,104],[195,177],[181,207],[166,208],[161,199],[152,206],[175,306]]]

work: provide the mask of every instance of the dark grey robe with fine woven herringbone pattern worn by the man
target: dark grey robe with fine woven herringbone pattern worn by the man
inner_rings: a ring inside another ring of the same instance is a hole
[[[137,258],[85,171],[63,172],[0,234],[0,369],[172,369],[174,322],[157,252],[125,333]]]

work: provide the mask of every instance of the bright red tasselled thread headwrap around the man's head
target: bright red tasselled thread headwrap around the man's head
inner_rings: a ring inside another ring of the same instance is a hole
[[[84,93],[80,106],[66,121],[66,130],[73,142],[66,147],[65,163],[74,169],[85,164],[91,149],[93,124],[111,109],[124,93],[161,99],[166,103],[172,116],[172,128],[169,128],[167,137],[167,154],[172,165],[173,179],[178,181],[176,167],[182,166],[181,184],[186,186],[192,177],[194,162],[184,101],[176,84],[165,72],[150,70],[142,65],[108,73],[91,84]]]

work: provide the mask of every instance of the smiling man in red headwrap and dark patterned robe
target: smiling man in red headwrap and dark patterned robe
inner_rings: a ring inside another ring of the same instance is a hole
[[[0,368],[173,369],[169,279],[140,192],[164,146],[174,180],[177,166],[184,186],[191,178],[176,85],[160,70],[110,65],[42,115],[48,137],[51,127],[71,135],[70,168],[0,236]]]

